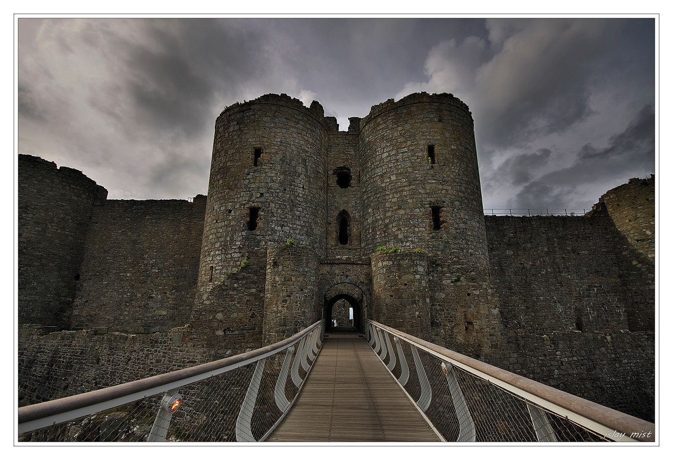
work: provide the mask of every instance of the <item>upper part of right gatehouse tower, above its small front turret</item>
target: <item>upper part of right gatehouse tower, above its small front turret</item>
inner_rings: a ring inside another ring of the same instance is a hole
[[[422,248],[488,270],[474,122],[450,94],[375,105],[360,123],[362,247]]]

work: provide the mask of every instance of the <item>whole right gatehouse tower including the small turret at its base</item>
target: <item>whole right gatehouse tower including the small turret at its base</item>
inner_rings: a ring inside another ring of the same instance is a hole
[[[473,357],[497,347],[498,299],[467,105],[446,93],[390,99],[361,120],[359,149],[372,318]]]

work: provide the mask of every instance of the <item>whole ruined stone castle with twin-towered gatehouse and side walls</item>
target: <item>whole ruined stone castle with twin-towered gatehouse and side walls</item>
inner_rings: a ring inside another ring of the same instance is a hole
[[[586,216],[485,216],[460,99],[416,93],[349,121],[287,95],[226,107],[192,201],[106,199],[20,155],[20,404],[352,308],[360,330],[370,318],[653,421],[653,177]]]

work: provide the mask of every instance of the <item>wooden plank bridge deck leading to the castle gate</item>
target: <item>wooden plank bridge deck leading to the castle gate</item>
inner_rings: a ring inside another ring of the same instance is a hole
[[[440,441],[361,335],[328,334],[302,394],[267,442]]]

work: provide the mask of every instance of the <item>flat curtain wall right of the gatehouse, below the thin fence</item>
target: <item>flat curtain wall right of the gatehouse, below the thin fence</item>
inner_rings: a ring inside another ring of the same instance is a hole
[[[486,216],[505,330],[627,329],[606,216]]]

